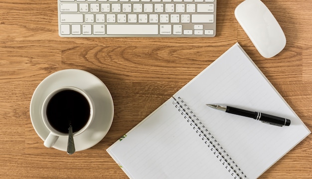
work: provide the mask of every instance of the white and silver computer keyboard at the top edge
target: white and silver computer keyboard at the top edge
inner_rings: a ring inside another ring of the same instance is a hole
[[[61,37],[213,37],[217,0],[58,0]]]

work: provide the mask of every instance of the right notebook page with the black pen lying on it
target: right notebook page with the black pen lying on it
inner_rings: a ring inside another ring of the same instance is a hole
[[[249,179],[256,179],[310,134],[266,77],[235,44],[180,89],[181,97]],[[228,105],[291,120],[278,127],[225,113]]]

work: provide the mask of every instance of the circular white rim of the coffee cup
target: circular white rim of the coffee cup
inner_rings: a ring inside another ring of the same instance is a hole
[[[55,130],[49,123],[47,116],[46,116],[46,108],[47,108],[47,104],[49,102],[49,100],[58,92],[64,91],[64,90],[73,90],[76,92],[79,92],[80,94],[82,94],[88,101],[89,106],[90,106],[90,116],[89,116],[89,120],[87,122],[87,124],[80,129],[79,131],[73,133],[74,136],[77,136],[81,133],[83,133],[89,126],[90,124],[93,122],[94,120],[94,102],[92,100],[92,98],[90,97],[90,95],[83,89],[74,87],[74,86],[64,86],[61,88],[57,88],[54,91],[52,91],[51,93],[48,94],[48,96],[44,99],[43,104],[42,104],[42,108],[41,108],[41,115],[42,115],[42,121],[45,125],[45,127],[50,131],[50,133],[56,135],[56,136],[68,136],[67,133],[61,133],[57,130]]]

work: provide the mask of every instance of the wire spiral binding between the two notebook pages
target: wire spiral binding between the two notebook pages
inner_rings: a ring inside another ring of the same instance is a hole
[[[208,129],[193,114],[192,110],[187,107],[184,101],[180,97],[177,99],[173,97],[173,99],[174,101],[172,104],[176,104],[175,108],[181,112],[181,115],[184,116],[189,125],[193,127],[198,136],[202,137],[201,139],[207,144],[207,147],[213,154],[216,155],[216,158],[222,162],[222,165],[224,165],[225,169],[233,176],[233,179],[247,179],[246,175],[244,175],[227,152],[220,146],[217,140],[214,139]]]

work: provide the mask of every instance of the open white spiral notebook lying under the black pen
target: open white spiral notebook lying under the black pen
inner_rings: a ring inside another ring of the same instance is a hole
[[[261,111],[291,125],[205,104]],[[310,133],[236,43],[107,152],[131,179],[256,179]]]

